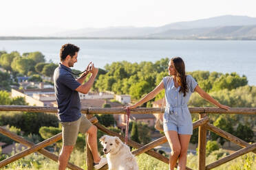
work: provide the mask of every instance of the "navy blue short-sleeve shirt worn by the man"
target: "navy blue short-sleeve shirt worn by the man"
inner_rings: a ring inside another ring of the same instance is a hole
[[[81,101],[75,90],[81,84],[75,80],[71,69],[59,64],[54,71],[54,90],[61,122],[77,121],[81,117]]]

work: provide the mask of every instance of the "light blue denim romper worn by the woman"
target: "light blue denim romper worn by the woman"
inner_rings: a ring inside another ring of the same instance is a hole
[[[180,86],[175,88],[172,77],[164,77],[162,81],[164,82],[166,99],[164,132],[174,130],[178,134],[193,134],[191,113],[187,103],[198,83],[195,82],[191,75],[186,75],[186,84],[189,87],[189,91],[184,97],[184,93],[179,92]]]

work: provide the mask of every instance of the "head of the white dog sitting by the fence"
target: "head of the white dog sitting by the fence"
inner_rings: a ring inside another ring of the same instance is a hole
[[[104,154],[116,153],[116,150],[123,144],[120,138],[116,136],[104,135],[100,138],[100,144],[103,145]]]

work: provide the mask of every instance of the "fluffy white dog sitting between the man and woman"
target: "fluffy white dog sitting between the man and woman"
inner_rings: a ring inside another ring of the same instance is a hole
[[[104,154],[107,154],[109,170],[138,170],[136,158],[120,138],[104,135],[100,138]]]

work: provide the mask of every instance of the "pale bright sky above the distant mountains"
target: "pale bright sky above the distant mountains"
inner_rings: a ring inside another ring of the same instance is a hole
[[[256,17],[254,0],[1,0],[0,36],[86,27],[159,27],[222,15]]]

